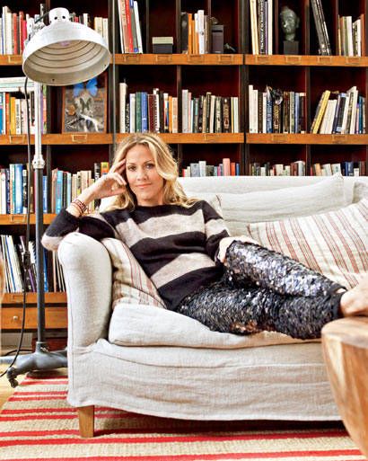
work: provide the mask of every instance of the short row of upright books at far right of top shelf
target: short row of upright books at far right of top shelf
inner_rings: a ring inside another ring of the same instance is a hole
[[[365,55],[364,14],[353,21],[352,16],[338,16],[337,54],[339,56]]]

